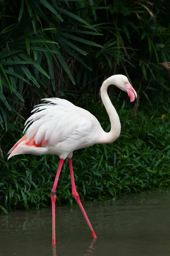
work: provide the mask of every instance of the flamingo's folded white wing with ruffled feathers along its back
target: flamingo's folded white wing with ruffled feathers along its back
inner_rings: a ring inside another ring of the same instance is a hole
[[[85,135],[97,120],[90,112],[65,99],[44,101],[48,103],[37,105],[25,123],[27,143],[34,138],[36,145],[54,147],[75,132],[79,136]]]

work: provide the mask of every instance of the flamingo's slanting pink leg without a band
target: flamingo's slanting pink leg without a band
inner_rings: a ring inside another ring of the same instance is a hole
[[[82,214],[84,215],[85,220],[87,221],[87,224],[88,224],[88,227],[90,228],[92,237],[96,238],[96,234],[94,233],[93,227],[91,226],[91,223],[90,223],[90,221],[88,219],[88,216],[87,216],[87,214],[85,212],[85,209],[83,208],[82,203],[80,201],[79,194],[76,191],[76,186],[75,186],[75,182],[74,182],[73,165],[72,165],[72,159],[71,158],[68,158],[68,163],[69,163],[69,167],[70,167],[72,195],[76,199],[77,204],[79,205],[80,209],[82,210]]]

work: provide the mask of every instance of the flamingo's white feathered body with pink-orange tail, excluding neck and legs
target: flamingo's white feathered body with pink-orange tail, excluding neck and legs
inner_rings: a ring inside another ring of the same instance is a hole
[[[100,143],[104,131],[90,112],[65,99],[43,100],[48,104],[32,111],[25,123],[26,134],[8,152],[8,159],[17,154],[54,154],[65,159],[77,149]]]

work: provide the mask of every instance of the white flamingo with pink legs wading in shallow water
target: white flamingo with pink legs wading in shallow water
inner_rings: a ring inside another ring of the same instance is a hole
[[[68,158],[72,195],[76,199],[87,221],[92,237],[96,238],[93,227],[77,193],[72,165],[73,151],[86,148],[94,144],[113,143],[121,131],[121,124],[116,109],[109,99],[107,89],[109,85],[116,85],[127,92],[130,97],[131,108],[134,107],[137,93],[124,75],[114,75],[106,79],[100,89],[102,102],[108,112],[111,131],[105,132],[99,121],[90,112],[79,108],[65,99],[42,99],[44,103],[35,106],[33,114],[27,119],[23,133],[25,135],[11,148],[8,159],[18,154],[54,154],[59,157],[59,166],[51,189],[52,205],[52,244],[55,238],[55,202],[56,188],[64,160]]]

